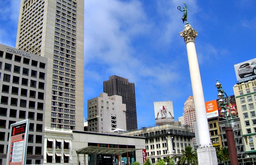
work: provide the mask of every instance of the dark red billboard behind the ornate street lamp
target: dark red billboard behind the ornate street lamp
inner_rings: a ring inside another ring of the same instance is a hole
[[[229,99],[230,105],[228,105],[227,99]],[[219,100],[219,99],[217,99],[217,103],[218,103],[218,100]],[[225,98],[224,98],[224,101],[226,102],[227,115],[228,115],[228,117],[230,117],[230,115],[232,114],[232,117],[233,117],[233,118],[237,118],[237,117],[238,117],[238,112],[237,112],[237,103],[236,103],[235,96],[234,96],[234,95],[231,95],[231,96],[225,97]],[[222,118],[226,118],[225,116],[222,116],[222,115],[220,114],[220,111],[221,111],[221,107],[220,107],[220,105],[218,104],[218,116],[219,116],[219,117],[222,117]]]

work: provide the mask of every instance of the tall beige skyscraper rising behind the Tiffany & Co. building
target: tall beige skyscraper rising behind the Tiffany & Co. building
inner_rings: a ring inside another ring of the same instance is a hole
[[[48,59],[45,127],[83,130],[83,15],[83,0],[21,0],[16,48]]]

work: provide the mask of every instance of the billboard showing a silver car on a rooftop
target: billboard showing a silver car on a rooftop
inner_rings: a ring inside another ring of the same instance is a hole
[[[243,82],[256,78],[256,59],[234,65],[237,81]]]

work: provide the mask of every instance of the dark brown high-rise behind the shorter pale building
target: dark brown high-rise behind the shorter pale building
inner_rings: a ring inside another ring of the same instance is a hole
[[[137,112],[135,99],[135,84],[130,83],[128,79],[111,76],[108,81],[103,82],[103,92],[108,96],[120,95],[122,96],[123,104],[126,104],[126,130],[137,129]]]

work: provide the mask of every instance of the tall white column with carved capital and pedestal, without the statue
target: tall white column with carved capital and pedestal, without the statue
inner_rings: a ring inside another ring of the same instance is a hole
[[[196,55],[195,39],[197,32],[190,25],[185,25],[185,29],[180,32],[181,37],[187,46],[188,64],[192,84],[192,92],[196,110],[196,123],[199,134],[198,164],[199,165],[218,165],[215,148],[211,145],[211,139],[208,128],[207,114],[203,97],[203,87],[200,76],[200,70]]]

